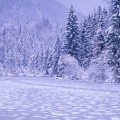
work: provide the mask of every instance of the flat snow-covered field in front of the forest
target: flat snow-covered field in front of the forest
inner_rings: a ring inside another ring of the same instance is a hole
[[[120,85],[1,77],[0,120],[120,120]]]

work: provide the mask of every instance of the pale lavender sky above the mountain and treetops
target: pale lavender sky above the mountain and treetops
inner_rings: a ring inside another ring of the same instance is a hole
[[[67,7],[70,7],[71,4],[74,5],[74,8],[77,11],[82,12],[83,14],[87,15],[88,13],[92,12],[94,8],[99,5],[105,6],[104,0],[58,0],[59,2],[63,3]]]

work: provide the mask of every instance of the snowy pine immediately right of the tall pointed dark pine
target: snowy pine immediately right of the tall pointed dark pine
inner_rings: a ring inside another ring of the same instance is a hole
[[[81,67],[87,69],[92,57],[92,46],[91,46],[91,33],[92,27],[89,23],[90,18],[85,19],[80,27],[80,42],[79,42],[79,54],[78,54],[78,62]]]

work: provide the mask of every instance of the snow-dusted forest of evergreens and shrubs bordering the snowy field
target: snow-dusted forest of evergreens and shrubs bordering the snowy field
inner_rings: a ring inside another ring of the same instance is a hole
[[[0,29],[0,74],[120,82],[120,0],[80,23],[71,5],[66,26],[43,18]]]

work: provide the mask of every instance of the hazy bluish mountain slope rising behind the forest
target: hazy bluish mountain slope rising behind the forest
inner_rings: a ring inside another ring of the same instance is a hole
[[[0,0],[0,22],[33,22],[42,17],[65,21],[69,9],[56,0]],[[80,18],[84,15],[78,13]]]

